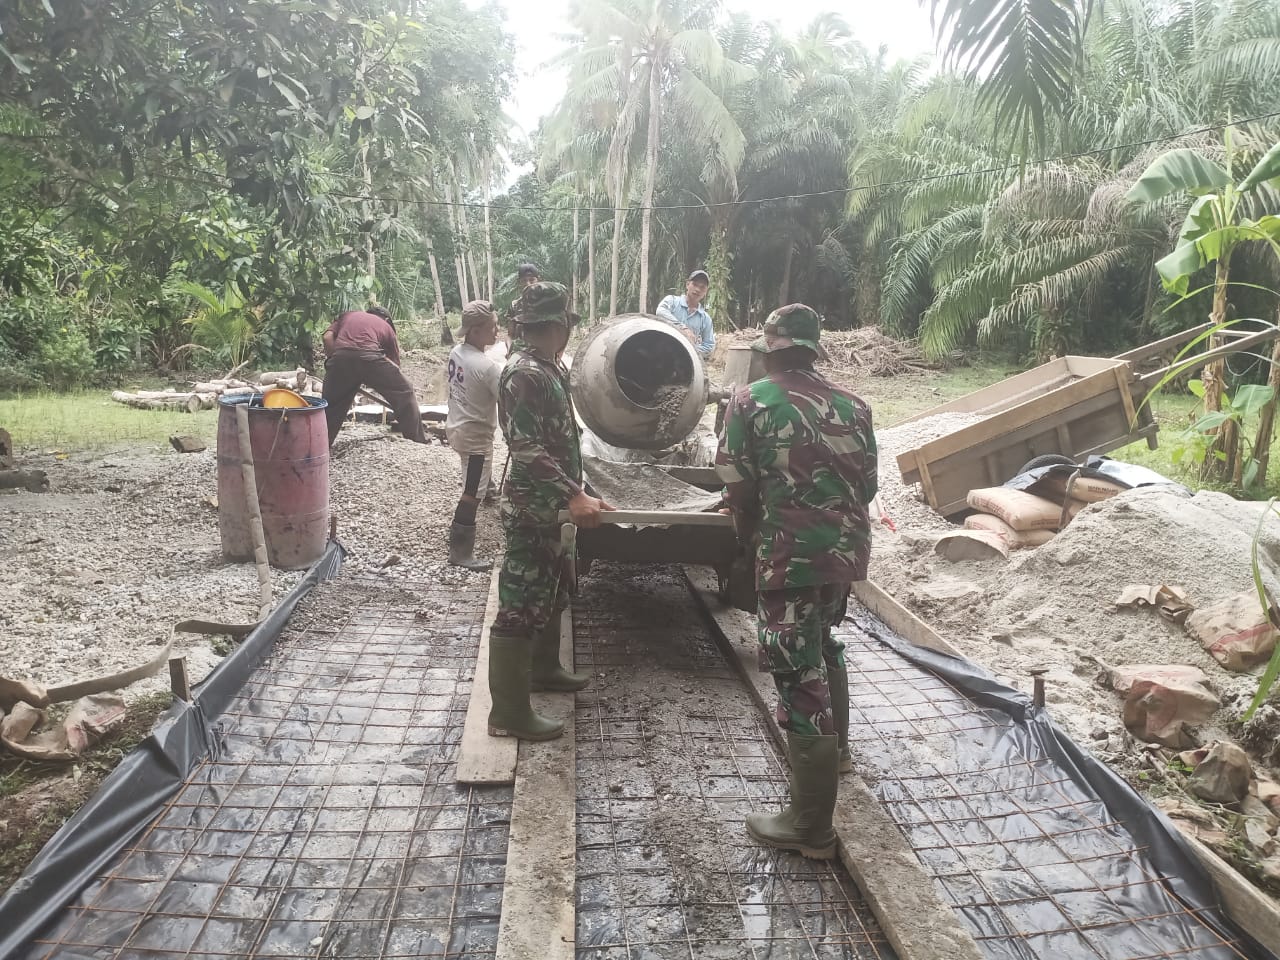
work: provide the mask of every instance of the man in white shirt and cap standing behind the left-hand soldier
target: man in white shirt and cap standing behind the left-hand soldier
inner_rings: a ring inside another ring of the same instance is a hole
[[[493,472],[502,374],[502,366],[485,353],[498,340],[498,315],[489,301],[476,300],[462,310],[462,338],[449,353],[449,416],[444,421],[444,435],[462,461],[462,497],[449,527],[449,563],[489,570],[493,562],[475,556],[476,511]]]

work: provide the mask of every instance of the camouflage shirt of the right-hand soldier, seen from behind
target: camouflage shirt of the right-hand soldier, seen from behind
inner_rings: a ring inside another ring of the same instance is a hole
[[[756,380],[730,401],[716,468],[754,529],[758,589],[867,579],[877,479],[863,399],[813,370]]]

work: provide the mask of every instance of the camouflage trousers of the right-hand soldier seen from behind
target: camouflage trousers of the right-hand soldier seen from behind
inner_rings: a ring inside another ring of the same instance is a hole
[[[760,669],[773,675],[783,730],[808,736],[835,732],[827,668],[845,666],[845,645],[831,628],[845,618],[847,605],[849,584],[760,590]]]

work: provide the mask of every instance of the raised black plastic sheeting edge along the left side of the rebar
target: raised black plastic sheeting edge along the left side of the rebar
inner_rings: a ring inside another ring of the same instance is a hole
[[[45,845],[0,900],[0,959],[15,955],[50,923],[160,813],[187,774],[218,751],[218,717],[270,652],[293,608],[337,575],[344,556],[330,541],[270,616],[196,687],[192,701],[175,703]]]

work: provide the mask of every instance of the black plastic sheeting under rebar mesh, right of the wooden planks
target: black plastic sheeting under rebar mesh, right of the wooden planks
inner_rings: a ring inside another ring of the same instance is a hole
[[[847,623],[855,755],[988,956],[1275,960],[1176,827],[1030,698],[865,609]]]

